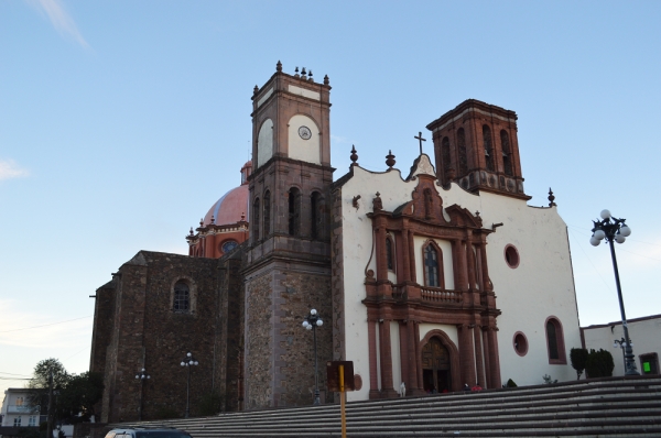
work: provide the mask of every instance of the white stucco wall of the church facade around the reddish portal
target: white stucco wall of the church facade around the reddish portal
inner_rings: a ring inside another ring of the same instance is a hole
[[[354,361],[355,372],[364,382],[361,391],[348,395],[350,401],[366,399],[369,394],[367,310],[361,300],[365,299],[365,271],[376,272],[376,263],[372,256],[366,266],[373,244],[371,221],[366,213],[372,210],[377,191],[381,194],[383,209],[392,211],[411,199],[416,185],[418,180],[404,182],[398,169],[370,173],[355,166],[354,176],[342,189],[346,360]],[[578,316],[566,226],[556,208],[533,208],[524,200],[488,193],[477,196],[456,184],[448,190],[436,186],[436,190],[444,208],[457,204],[474,213],[480,211],[485,228],[503,223],[489,234],[486,250],[496,306],[502,311],[497,319],[502,382],[512,379],[518,385],[540,384],[544,374],[560,381],[575,379],[568,352],[572,347],[581,346]],[[360,195],[358,209],[353,206],[357,195]],[[416,258],[423,242],[422,238],[415,239]],[[444,252],[446,287],[451,288],[454,287],[452,249],[449,242],[437,243]],[[505,261],[507,244],[513,244],[519,251],[517,269],[510,269]],[[419,283],[422,283],[422,261],[418,262],[418,271]],[[556,317],[563,326],[566,365],[549,364],[545,321],[550,316]],[[421,337],[426,333],[422,329],[425,326],[421,325]],[[442,330],[458,347],[456,328],[443,327]],[[512,338],[517,331],[528,338],[529,350],[524,357],[513,349]],[[392,350],[394,353],[394,346]],[[393,363],[399,366],[399,355],[393,357]],[[399,379],[400,373],[397,374]],[[393,386],[397,388],[394,382]]]

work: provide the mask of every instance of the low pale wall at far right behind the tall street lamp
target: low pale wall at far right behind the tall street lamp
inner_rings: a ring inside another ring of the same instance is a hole
[[[629,327],[629,338],[633,344],[636,366],[638,366],[638,372],[643,374],[640,355],[657,353],[658,357],[661,357],[661,315],[630,319],[627,326]],[[588,351],[590,349],[610,351],[615,364],[613,375],[625,375],[622,350],[620,347],[613,347],[616,339],[621,340],[625,337],[621,321],[584,327],[583,337]]]

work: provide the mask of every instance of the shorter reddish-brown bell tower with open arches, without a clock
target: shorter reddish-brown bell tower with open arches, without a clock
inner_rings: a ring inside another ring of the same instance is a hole
[[[426,127],[432,131],[436,173],[469,191],[530,199],[523,191],[517,113],[468,99]]]

